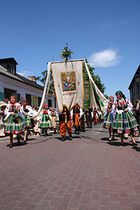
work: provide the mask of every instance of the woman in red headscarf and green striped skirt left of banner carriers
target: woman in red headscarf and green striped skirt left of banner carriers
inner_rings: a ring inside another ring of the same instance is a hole
[[[47,107],[47,104],[44,105],[44,109],[42,111],[42,119],[40,123],[40,128],[42,132],[47,136],[48,135],[48,128],[52,127],[51,122],[51,113]]]

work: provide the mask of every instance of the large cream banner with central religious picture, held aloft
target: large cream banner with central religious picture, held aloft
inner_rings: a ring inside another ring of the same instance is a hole
[[[71,109],[75,104],[83,107],[83,61],[52,62],[52,74],[59,111],[63,105]]]

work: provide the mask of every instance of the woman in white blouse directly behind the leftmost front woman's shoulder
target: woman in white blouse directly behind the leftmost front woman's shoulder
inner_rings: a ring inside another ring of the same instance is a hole
[[[27,104],[27,100],[23,99],[21,111],[24,120],[24,142],[28,140],[29,129],[31,128],[32,107]]]

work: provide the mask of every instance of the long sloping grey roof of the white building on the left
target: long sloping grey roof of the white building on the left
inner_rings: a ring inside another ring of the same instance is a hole
[[[17,80],[21,83],[24,83],[24,84],[30,85],[32,87],[44,90],[44,88],[41,85],[37,84],[36,82],[33,82],[33,81],[31,81],[31,80],[29,80],[29,79],[27,79],[27,78],[25,78],[25,77],[23,77],[23,76],[21,76],[17,73],[16,74],[11,74],[10,72],[8,72],[7,69],[5,69],[1,65],[0,65],[0,74],[3,74],[4,76],[7,76],[7,77],[9,77],[11,79],[14,79],[14,80]]]

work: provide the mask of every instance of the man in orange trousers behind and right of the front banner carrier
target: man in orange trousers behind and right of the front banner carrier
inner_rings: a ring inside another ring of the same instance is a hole
[[[79,134],[80,130],[80,106],[76,104],[73,107],[73,121],[74,121],[74,127],[75,127],[75,134]]]

